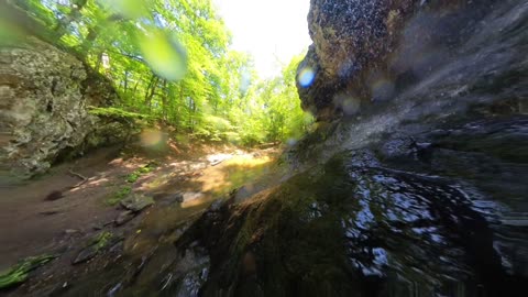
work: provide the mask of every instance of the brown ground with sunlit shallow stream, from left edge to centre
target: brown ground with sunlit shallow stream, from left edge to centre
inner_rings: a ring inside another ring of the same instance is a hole
[[[82,244],[107,230],[134,234],[124,240],[129,250],[150,246],[145,242],[158,241],[165,230],[191,221],[233,189],[245,185],[245,196],[257,191],[250,182],[270,172],[279,150],[173,144],[162,153],[123,152],[101,148],[23,185],[0,188],[0,226],[8,227],[0,229],[0,272],[28,256],[59,254],[52,266],[68,273],[65,267]],[[133,195],[152,197],[154,205],[118,224],[125,212],[120,200]]]

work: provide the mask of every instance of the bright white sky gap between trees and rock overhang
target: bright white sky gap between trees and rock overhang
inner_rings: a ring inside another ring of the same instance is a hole
[[[261,77],[280,72],[311,44],[310,0],[213,0],[229,30],[233,50],[250,53]]]

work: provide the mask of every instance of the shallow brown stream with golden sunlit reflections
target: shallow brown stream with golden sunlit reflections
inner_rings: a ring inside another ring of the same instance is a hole
[[[160,175],[143,186],[152,193],[156,205],[150,209],[138,227],[141,233],[125,240],[124,250],[130,255],[142,255],[157,244],[170,244],[218,199],[229,198],[229,193],[245,185],[243,193],[253,193],[252,183],[271,173],[275,151],[252,154],[212,154],[206,163],[174,163],[182,172]],[[256,188],[255,188],[256,190]],[[185,228],[184,228],[185,229]]]

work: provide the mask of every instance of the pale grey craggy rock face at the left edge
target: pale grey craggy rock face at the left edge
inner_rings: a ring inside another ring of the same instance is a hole
[[[2,176],[45,172],[77,150],[117,92],[74,56],[36,38],[0,48],[0,168]]]

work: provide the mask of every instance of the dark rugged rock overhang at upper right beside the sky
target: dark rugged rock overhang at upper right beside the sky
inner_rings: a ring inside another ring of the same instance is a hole
[[[298,77],[314,78],[297,84],[302,107],[331,120],[388,100],[444,62],[491,2],[311,0],[314,44]]]

